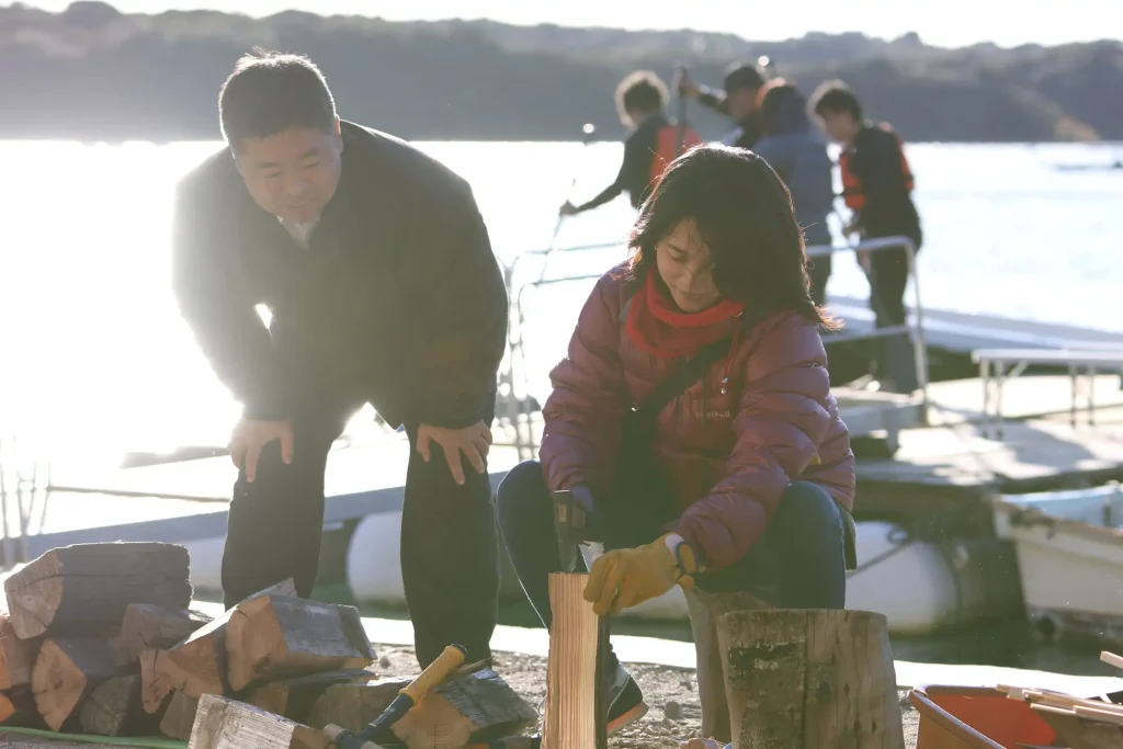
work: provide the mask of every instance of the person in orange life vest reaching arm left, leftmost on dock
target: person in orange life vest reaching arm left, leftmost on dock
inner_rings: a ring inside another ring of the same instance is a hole
[[[636,71],[617,86],[617,109],[620,121],[632,129],[624,141],[624,159],[617,179],[592,200],[574,205],[566,201],[559,213],[575,216],[613,200],[628,192],[632,208],[639,208],[650,194],[670,162],[693,146],[702,143],[692,128],[684,124],[682,133],[667,119],[667,85],[650,71]],[[682,135],[683,143],[678,143]]]

